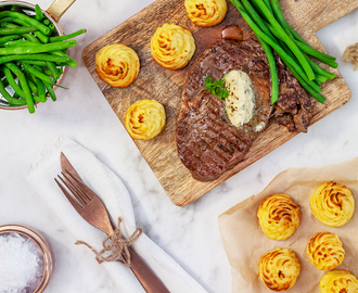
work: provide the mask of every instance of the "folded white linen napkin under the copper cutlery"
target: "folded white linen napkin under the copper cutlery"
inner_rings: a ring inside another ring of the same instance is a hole
[[[119,216],[123,218],[120,226],[123,234],[126,238],[131,235],[137,226],[130,196],[122,180],[91,152],[69,138],[60,138],[53,152],[42,162],[31,166],[27,180],[66,229],[76,239],[89,243],[95,250],[102,249],[105,234],[77,214],[53,180],[61,171],[61,152],[66,155],[81,179],[101,198],[115,224]],[[206,292],[144,233],[132,246],[170,292]],[[85,245],[82,247],[88,250]],[[120,292],[145,292],[129,268],[118,262],[102,263],[101,265],[111,275]]]

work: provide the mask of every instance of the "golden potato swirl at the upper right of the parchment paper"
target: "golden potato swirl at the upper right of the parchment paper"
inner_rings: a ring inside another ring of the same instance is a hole
[[[315,217],[331,227],[347,224],[355,212],[355,199],[350,190],[332,181],[314,191],[309,205]]]

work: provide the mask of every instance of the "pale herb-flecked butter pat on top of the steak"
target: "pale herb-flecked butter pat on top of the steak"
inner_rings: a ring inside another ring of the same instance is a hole
[[[232,125],[240,127],[251,120],[255,109],[255,92],[250,76],[242,71],[231,71],[225,77],[229,91],[226,111]]]

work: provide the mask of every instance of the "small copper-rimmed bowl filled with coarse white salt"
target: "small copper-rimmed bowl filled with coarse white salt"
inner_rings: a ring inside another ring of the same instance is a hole
[[[0,226],[0,292],[40,293],[52,275],[52,255],[46,240],[20,225]]]

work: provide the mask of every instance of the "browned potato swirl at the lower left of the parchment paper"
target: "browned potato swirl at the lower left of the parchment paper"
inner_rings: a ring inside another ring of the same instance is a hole
[[[264,254],[258,262],[258,277],[264,284],[276,292],[291,289],[301,272],[301,262],[287,249],[277,249]]]

